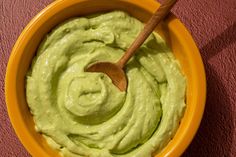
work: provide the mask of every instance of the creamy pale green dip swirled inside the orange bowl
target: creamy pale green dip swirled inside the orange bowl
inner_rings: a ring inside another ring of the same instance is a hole
[[[41,43],[26,78],[36,130],[66,157],[150,157],[174,136],[186,80],[171,50],[152,34],[125,67],[120,92],[97,61],[116,62],[143,24],[121,11],[70,19]]]

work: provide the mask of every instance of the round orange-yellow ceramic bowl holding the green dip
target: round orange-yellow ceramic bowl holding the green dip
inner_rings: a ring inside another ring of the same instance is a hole
[[[159,7],[154,0],[59,0],[41,11],[18,38],[7,66],[5,94],[11,123],[19,139],[34,157],[58,157],[35,131],[25,96],[25,75],[40,41],[62,21],[95,12],[124,10],[146,22]],[[187,77],[187,108],[174,138],[156,156],[180,156],[193,139],[204,111],[206,79],[199,51],[186,28],[170,15],[157,31],[167,41]]]

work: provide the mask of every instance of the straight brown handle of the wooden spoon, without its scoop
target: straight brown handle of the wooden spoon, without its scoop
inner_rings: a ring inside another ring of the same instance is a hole
[[[169,13],[170,9],[176,3],[176,0],[165,0],[164,3],[156,10],[151,19],[147,22],[142,32],[139,33],[138,37],[128,48],[121,59],[116,63],[119,67],[123,68],[128,60],[134,55],[135,51],[144,43],[144,41],[149,37],[158,23],[165,18]]]

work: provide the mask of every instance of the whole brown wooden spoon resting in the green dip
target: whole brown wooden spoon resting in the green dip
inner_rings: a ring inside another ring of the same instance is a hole
[[[111,78],[112,83],[117,86],[120,91],[125,91],[127,88],[127,78],[125,72],[123,71],[125,64],[135,54],[136,50],[144,43],[158,23],[170,12],[170,9],[173,7],[175,2],[176,0],[164,1],[117,63],[98,62],[89,66],[85,71],[105,73]]]

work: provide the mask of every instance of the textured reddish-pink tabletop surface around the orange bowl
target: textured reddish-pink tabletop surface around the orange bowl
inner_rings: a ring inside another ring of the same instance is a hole
[[[10,124],[4,77],[20,32],[52,0],[0,0],[0,157],[30,156]],[[236,156],[236,0],[179,0],[174,14],[195,39],[206,68],[204,117],[187,157]]]

